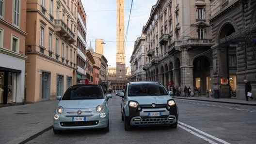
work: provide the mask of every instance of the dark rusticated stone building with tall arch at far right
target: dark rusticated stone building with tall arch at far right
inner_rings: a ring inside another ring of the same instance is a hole
[[[211,0],[212,87],[221,98],[245,99],[244,79],[256,93],[256,1]]]

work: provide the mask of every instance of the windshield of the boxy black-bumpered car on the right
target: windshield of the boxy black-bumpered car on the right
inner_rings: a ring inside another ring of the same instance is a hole
[[[160,84],[132,84],[128,88],[128,96],[161,96],[168,95]]]

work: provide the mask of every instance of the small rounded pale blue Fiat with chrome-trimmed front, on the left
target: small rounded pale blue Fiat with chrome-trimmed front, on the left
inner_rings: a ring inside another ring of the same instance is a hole
[[[108,100],[100,85],[75,85],[62,96],[53,116],[53,132],[62,130],[103,128],[109,131]]]

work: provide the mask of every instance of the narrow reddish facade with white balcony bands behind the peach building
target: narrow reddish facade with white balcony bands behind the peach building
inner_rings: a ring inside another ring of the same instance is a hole
[[[77,8],[77,84],[85,84],[86,76],[86,13],[81,0],[78,0]]]

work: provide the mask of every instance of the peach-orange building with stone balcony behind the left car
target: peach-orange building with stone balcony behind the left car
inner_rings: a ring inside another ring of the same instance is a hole
[[[77,7],[77,0],[27,0],[27,102],[54,99],[77,83]]]

